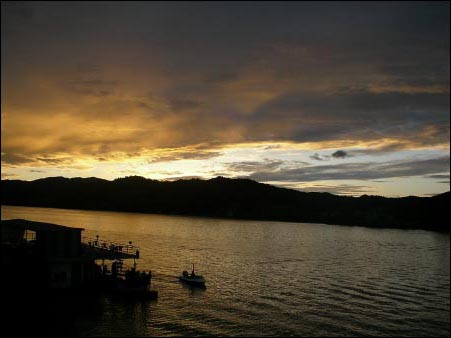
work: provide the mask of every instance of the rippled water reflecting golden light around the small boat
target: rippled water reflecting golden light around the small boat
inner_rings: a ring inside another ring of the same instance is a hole
[[[449,336],[450,235],[423,230],[1,207],[141,247],[157,301],[102,298],[83,336]],[[177,276],[191,262],[205,290]]]

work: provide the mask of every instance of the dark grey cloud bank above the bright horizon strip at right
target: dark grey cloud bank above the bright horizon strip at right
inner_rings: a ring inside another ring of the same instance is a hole
[[[446,143],[449,100],[449,94],[431,93],[299,92],[265,103],[249,117],[249,123],[256,139],[264,138],[270,129],[272,138],[299,142],[385,137]],[[419,139],[419,134],[424,137]]]

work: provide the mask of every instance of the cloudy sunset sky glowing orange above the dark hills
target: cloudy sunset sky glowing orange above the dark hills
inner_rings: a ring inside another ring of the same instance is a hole
[[[449,2],[1,4],[1,177],[450,189]]]

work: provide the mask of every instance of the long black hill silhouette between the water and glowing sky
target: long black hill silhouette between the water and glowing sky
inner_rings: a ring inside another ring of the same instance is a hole
[[[438,231],[449,231],[449,196],[446,192],[433,197],[349,197],[224,177],[178,181],[50,177],[1,182],[3,205]]]

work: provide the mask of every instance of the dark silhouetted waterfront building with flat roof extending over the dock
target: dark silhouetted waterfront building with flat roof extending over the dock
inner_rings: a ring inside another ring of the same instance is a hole
[[[139,250],[96,241],[82,242],[82,228],[24,219],[1,221],[2,269],[9,287],[80,288],[101,273],[97,259],[139,258]]]

